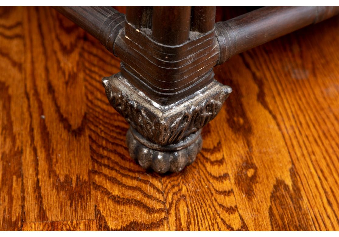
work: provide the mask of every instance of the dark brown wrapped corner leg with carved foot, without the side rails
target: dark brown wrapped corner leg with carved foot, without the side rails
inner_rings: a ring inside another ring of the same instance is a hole
[[[129,153],[144,168],[178,172],[191,164],[201,128],[232,91],[213,79],[219,60],[214,21],[215,7],[127,7],[114,47],[121,72],[103,85],[131,124]]]

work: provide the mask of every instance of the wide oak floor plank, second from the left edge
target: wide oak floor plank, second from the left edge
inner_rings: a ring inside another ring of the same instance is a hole
[[[84,32],[50,7],[28,7],[24,14],[25,221],[94,219],[78,67]]]

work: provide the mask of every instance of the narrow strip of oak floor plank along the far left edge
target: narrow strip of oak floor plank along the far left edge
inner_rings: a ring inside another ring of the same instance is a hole
[[[20,230],[22,205],[23,35],[18,8],[0,8],[0,230]]]

